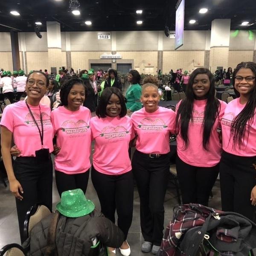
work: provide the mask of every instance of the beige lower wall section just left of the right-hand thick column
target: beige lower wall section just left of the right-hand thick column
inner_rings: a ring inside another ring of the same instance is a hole
[[[204,67],[204,51],[169,51],[163,52],[163,73],[170,70],[192,70]]]

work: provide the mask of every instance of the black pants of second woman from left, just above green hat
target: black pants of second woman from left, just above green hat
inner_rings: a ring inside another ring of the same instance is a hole
[[[85,194],[89,180],[89,173],[90,171],[88,170],[87,172],[79,174],[66,174],[55,170],[56,186],[60,197],[62,192],[72,189],[81,189]]]

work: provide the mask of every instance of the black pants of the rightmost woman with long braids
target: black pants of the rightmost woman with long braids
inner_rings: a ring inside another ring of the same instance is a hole
[[[221,155],[221,206],[223,211],[238,212],[256,222],[250,194],[256,185],[256,157],[239,157],[225,151]]]

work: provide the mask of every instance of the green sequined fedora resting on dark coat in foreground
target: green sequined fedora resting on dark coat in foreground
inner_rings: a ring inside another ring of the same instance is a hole
[[[66,217],[77,218],[92,212],[95,205],[86,199],[81,189],[73,189],[61,193],[61,202],[56,205],[56,208]]]

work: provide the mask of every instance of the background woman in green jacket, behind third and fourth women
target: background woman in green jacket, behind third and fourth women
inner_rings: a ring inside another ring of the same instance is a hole
[[[126,108],[127,115],[131,116],[134,111],[140,110],[142,105],[140,102],[141,86],[140,86],[140,73],[137,70],[131,70],[128,74],[128,81],[131,85],[126,92]]]

